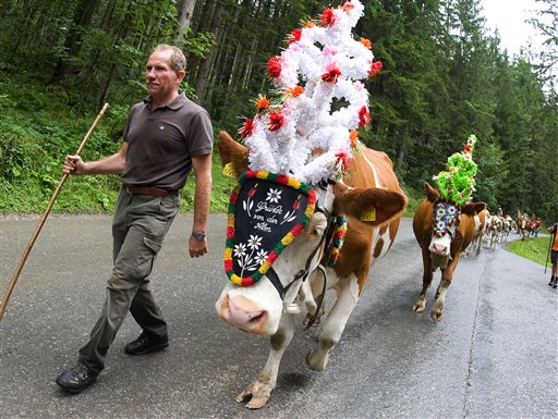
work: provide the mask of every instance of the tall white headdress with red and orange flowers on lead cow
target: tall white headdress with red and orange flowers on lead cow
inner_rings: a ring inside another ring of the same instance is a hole
[[[268,62],[280,97],[260,95],[256,115],[239,130],[253,171],[292,176],[308,184],[347,170],[359,127],[371,121],[361,82],[381,69],[371,41],[351,30],[363,15],[359,0],[326,9],[287,37],[287,48]]]

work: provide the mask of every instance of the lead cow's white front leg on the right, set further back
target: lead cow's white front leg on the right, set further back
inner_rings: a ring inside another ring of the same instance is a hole
[[[335,275],[332,270],[330,274]],[[318,333],[318,345],[306,355],[306,363],[315,371],[323,371],[329,359],[329,350],[339,342],[349,316],[359,300],[359,283],[351,273],[337,286],[337,298],[331,311],[323,321]]]

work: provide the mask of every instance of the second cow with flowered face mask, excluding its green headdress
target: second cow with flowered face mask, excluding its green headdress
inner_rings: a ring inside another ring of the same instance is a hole
[[[413,232],[422,249],[424,269],[423,288],[413,310],[424,311],[433,272],[440,268],[441,280],[430,312],[432,319],[438,322],[444,315],[446,293],[459,263],[461,250],[465,249],[477,234],[480,223],[475,215],[486,208],[486,204],[469,202],[459,211],[454,204],[444,201],[439,192],[428,183],[424,186],[426,198],[418,205],[413,218]],[[448,222],[452,217],[453,222]]]

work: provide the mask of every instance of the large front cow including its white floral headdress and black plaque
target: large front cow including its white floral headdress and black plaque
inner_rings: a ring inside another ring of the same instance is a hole
[[[326,368],[407,205],[390,159],[359,140],[369,121],[360,79],[379,70],[369,41],[351,34],[363,9],[349,1],[291,33],[268,67],[281,96],[255,101],[256,115],[239,131],[243,144],[223,132],[217,141],[238,182],[225,250],[229,282],[216,309],[231,325],[270,337],[266,365],[236,396],[247,408],[267,403],[302,308],[307,326],[319,324],[306,363]],[[337,298],[324,313],[330,288]]]

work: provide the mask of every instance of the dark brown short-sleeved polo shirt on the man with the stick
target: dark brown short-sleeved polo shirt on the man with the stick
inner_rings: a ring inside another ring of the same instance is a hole
[[[192,170],[192,157],[213,149],[209,114],[180,94],[151,110],[150,97],[132,107],[122,136],[128,143],[124,185],[180,189]]]

